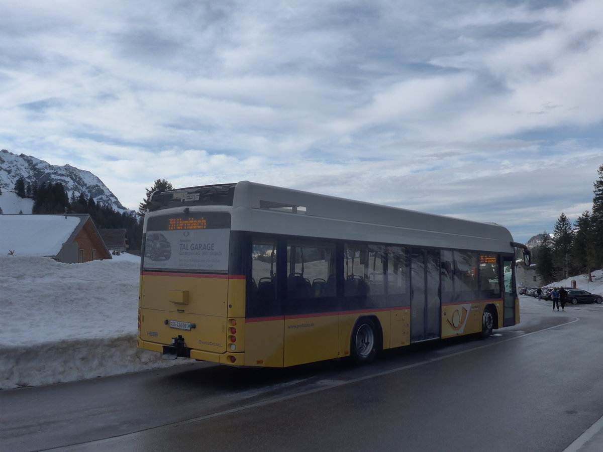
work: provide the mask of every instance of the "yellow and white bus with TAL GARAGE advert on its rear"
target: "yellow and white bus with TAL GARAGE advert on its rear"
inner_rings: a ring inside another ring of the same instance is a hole
[[[507,229],[241,181],[155,192],[137,347],[283,367],[519,322]]]

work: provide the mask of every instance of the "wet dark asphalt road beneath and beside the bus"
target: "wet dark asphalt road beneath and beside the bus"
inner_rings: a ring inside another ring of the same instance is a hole
[[[485,341],[361,368],[194,363],[0,391],[0,450],[579,450],[603,416],[603,305],[520,301],[522,322]]]

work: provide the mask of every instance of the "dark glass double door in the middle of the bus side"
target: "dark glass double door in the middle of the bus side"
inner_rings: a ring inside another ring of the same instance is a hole
[[[440,337],[440,253],[411,250],[411,342]]]

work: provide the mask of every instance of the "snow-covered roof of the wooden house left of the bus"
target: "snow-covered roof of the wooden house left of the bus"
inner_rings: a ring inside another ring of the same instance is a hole
[[[89,215],[0,215],[0,253],[54,257]]]

